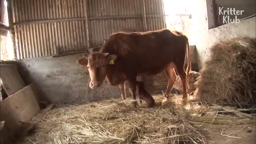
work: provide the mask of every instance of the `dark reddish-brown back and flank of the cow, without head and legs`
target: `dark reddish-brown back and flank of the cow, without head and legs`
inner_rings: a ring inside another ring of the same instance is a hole
[[[157,74],[167,63],[185,57],[186,41],[186,36],[167,29],[145,33],[117,33],[109,37],[101,52],[116,54],[116,65],[121,69]]]

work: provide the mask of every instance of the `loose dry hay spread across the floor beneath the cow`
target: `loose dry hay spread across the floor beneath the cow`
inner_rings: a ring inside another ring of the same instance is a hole
[[[184,106],[177,95],[155,108],[132,108],[130,100],[59,106],[36,116],[34,120],[40,120],[36,133],[22,143],[204,143],[202,130],[206,127],[255,124],[252,115],[229,107],[202,102]],[[222,115],[217,112],[220,109],[236,117]]]

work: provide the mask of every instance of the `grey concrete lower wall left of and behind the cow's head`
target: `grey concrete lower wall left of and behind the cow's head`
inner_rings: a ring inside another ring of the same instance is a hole
[[[117,87],[110,86],[107,81],[97,90],[92,91],[89,87],[86,96],[88,70],[76,62],[81,55],[20,60],[20,74],[27,84],[35,84],[40,98],[53,103],[79,103],[119,97]]]

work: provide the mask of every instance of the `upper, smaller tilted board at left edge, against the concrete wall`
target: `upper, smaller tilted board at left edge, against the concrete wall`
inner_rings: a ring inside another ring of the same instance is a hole
[[[14,65],[5,64],[0,65],[0,67],[0,77],[3,82],[3,87],[9,96],[26,86]]]

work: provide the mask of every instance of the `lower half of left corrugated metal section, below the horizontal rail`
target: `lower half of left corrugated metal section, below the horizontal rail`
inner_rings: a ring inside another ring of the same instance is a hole
[[[26,59],[83,50],[85,25],[83,20],[16,25],[17,56]]]

